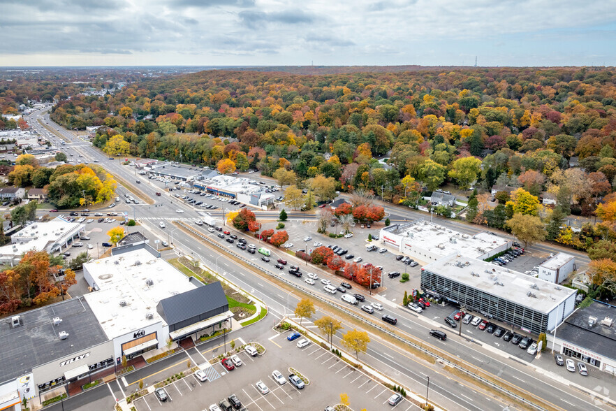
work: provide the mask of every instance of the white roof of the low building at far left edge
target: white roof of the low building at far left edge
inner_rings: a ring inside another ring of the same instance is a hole
[[[32,249],[52,251],[54,245],[64,244],[68,238],[75,236],[84,225],[71,223],[56,217],[50,222],[36,222],[13,234],[13,244],[0,247],[0,255],[20,256]]]

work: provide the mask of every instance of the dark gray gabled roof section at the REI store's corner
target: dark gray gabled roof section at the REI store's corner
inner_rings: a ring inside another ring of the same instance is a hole
[[[228,310],[228,305],[220,282],[212,282],[161,300],[156,311],[167,324],[177,324],[220,308]]]

